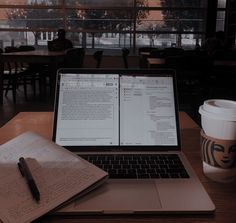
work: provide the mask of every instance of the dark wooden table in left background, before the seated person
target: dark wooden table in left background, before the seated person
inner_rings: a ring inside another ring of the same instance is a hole
[[[60,62],[63,61],[65,51],[20,51],[12,53],[2,53],[0,55],[0,105],[3,104],[3,70],[5,62],[23,62],[34,64],[48,64],[51,77],[52,92],[54,92],[56,72]]]

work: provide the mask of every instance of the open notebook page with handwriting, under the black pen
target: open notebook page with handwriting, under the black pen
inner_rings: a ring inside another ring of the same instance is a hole
[[[107,173],[75,154],[32,132],[0,146],[0,218],[3,222],[31,222],[49,212]],[[25,157],[40,191],[37,203],[17,162]]]

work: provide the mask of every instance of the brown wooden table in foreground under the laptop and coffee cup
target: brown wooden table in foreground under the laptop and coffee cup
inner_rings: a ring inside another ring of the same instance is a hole
[[[22,112],[0,128],[0,144],[32,130],[47,138],[52,135],[52,112]],[[46,215],[36,222],[40,223],[77,223],[77,222],[105,222],[105,223],[234,223],[236,222],[236,183],[216,183],[204,176],[199,146],[199,126],[184,112],[180,112],[180,126],[182,148],[191,165],[196,171],[206,191],[216,205],[213,215],[187,214],[187,215],[110,215],[110,216],[53,216]]]

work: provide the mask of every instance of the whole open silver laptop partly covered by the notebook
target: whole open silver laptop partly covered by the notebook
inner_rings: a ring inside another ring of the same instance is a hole
[[[110,176],[59,212],[214,212],[179,131],[174,71],[59,70],[53,140]]]

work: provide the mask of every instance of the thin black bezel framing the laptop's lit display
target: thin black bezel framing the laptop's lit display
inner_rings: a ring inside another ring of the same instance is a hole
[[[180,125],[179,125],[179,114],[178,114],[178,101],[177,101],[177,82],[176,73],[173,69],[84,69],[84,68],[61,68],[57,71],[56,78],[56,89],[55,89],[55,101],[54,101],[54,116],[53,116],[53,134],[52,140],[56,141],[57,131],[57,108],[60,90],[60,77],[61,74],[75,73],[75,74],[119,74],[119,75],[142,75],[142,76],[171,76],[173,77],[173,91],[174,91],[174,103],[175,103],[175,117],[176,117],[176,134],[177,134],[177,145],[99,145],[99,146],[63,146],[71,152],[162,152],[162,151],[180,151]]]

